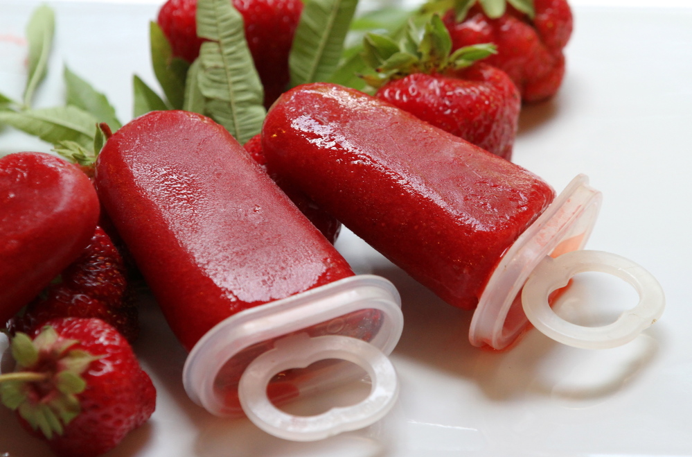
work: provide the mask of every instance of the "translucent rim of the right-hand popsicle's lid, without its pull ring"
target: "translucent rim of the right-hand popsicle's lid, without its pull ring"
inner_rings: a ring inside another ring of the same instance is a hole
[[[580,250],[589,239],[603,196],[589,187],[585,175],[577,175],[551,205],[507,250],[493,270],[479,298],[469,329],[474,346],[504,349],[526,329],[529,320],[515,316],[508,328],[508,313],[526,279],[544,257]]]

